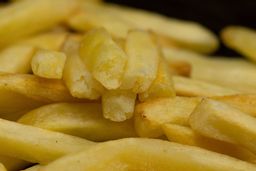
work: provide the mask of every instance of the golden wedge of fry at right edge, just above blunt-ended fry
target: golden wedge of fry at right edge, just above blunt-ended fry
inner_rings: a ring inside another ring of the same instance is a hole
[[[256,117],[256,95],[255,94],[238,94],[231,96],[213,97],[218,100],[238,108],[239,110]]]

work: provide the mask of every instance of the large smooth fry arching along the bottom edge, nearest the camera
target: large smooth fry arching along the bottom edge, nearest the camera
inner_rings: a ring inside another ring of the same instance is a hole
[[[226,155],[163,140],[122,139],[65,156],[43,167],[41,171],[74,169],[76,171],[254,171],[256,167]]]

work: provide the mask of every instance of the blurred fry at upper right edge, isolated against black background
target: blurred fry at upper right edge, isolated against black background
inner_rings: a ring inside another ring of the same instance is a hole
[[[222,30],[221,38],[226,46],[256,61],[256,30],[242,26],[229,26]]]

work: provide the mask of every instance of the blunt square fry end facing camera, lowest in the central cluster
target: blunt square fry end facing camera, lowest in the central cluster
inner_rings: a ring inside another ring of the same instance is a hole
[[[108,90],[102,95],[103,116],[121,122],[133,116],[136,94],[127,90]]]

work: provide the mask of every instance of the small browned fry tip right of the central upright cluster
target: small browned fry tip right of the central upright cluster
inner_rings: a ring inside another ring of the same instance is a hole
[[[173,74],[184,77],[190,77],[192,71],[192,65],[183,60],[169,61],[169,67]]]

